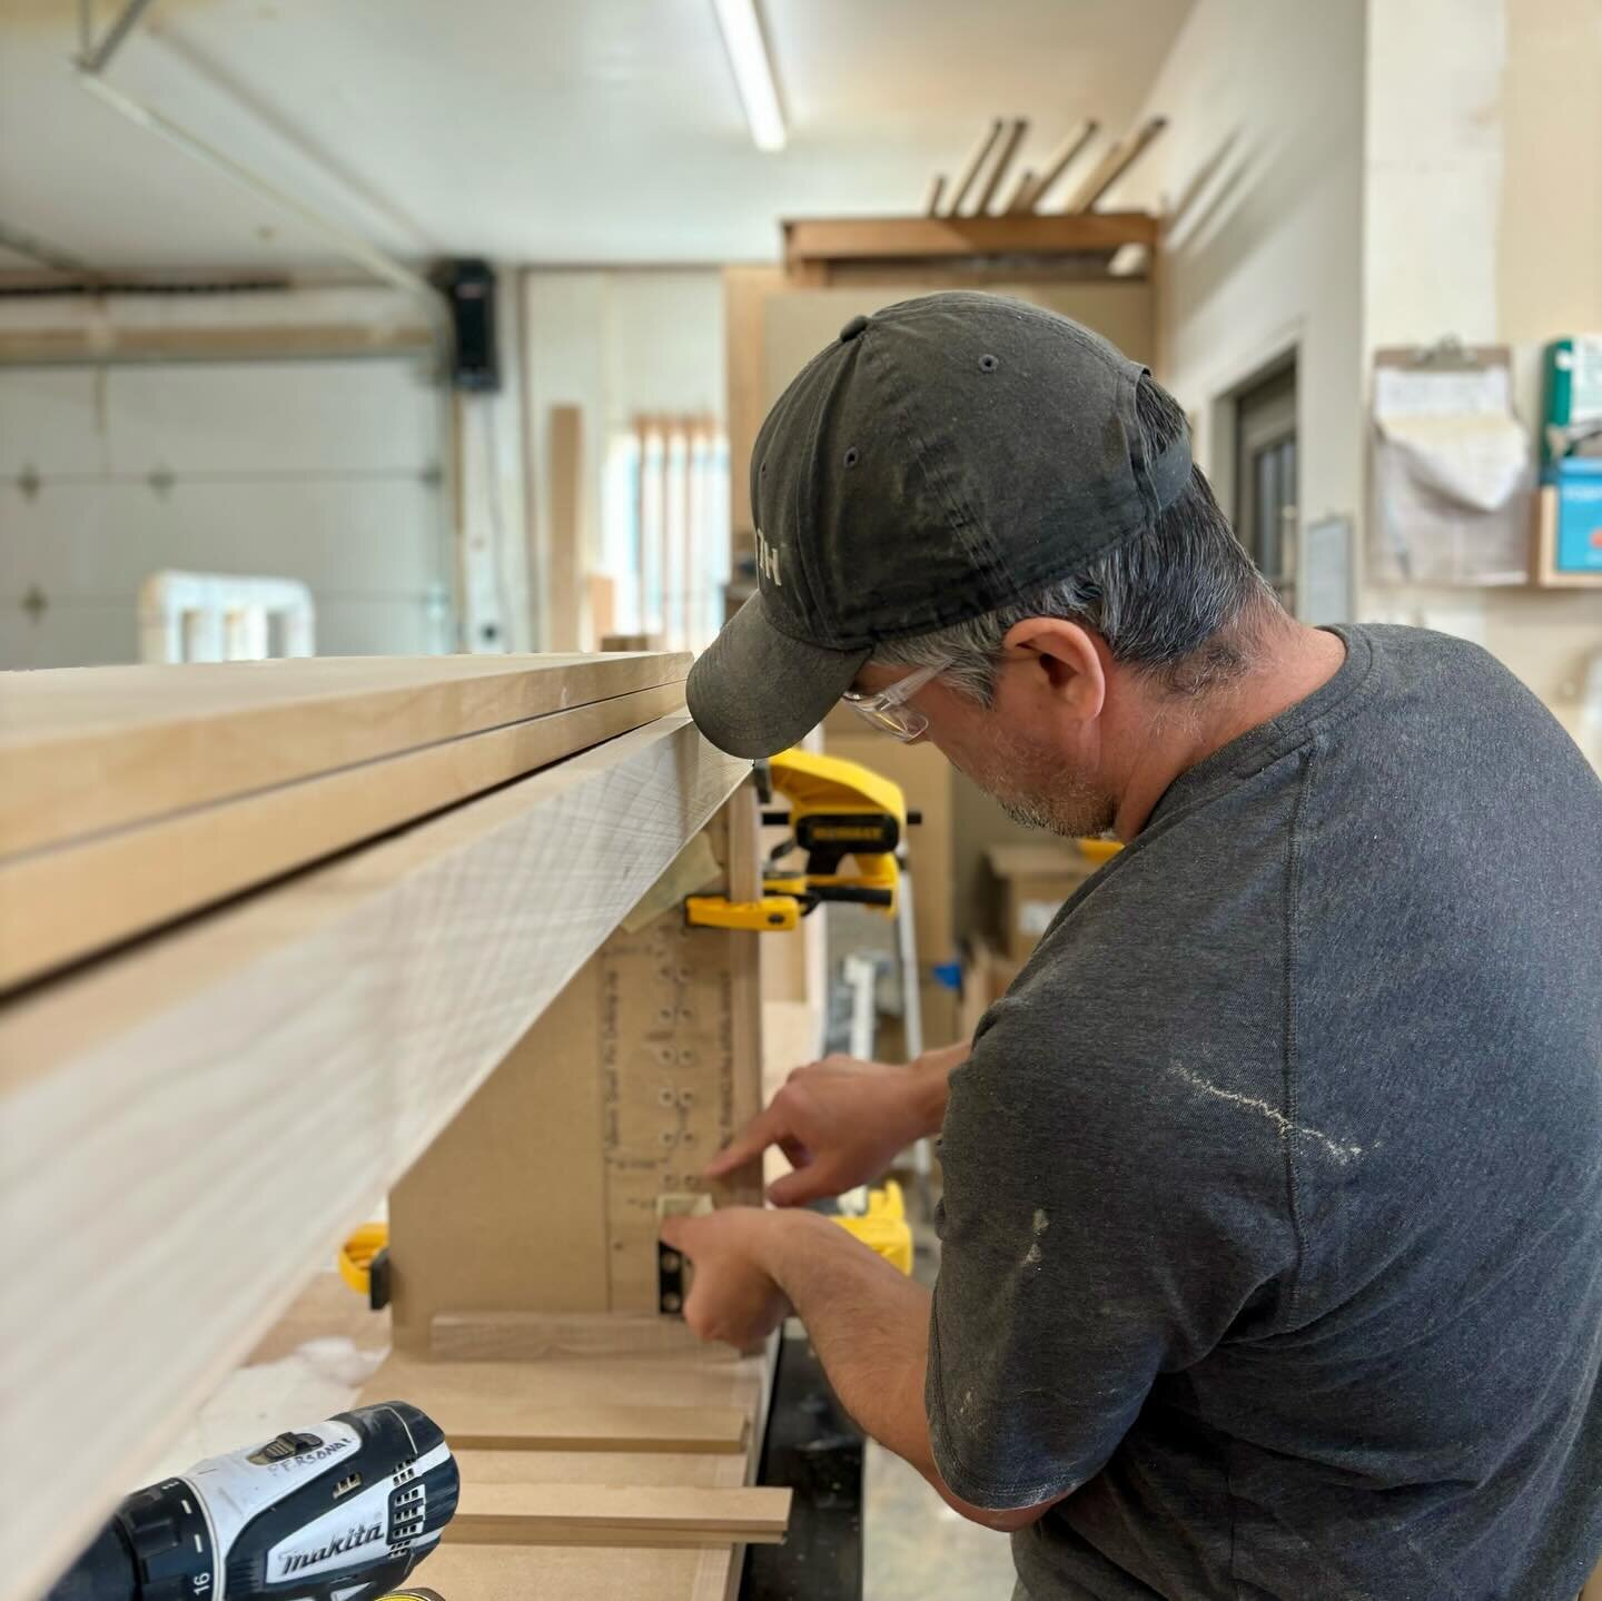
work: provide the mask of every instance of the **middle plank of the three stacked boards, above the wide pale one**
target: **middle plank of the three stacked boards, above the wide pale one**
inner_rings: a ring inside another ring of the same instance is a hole
[[[614,696],[0,857],[0,990],[522,777],[684,705]]]

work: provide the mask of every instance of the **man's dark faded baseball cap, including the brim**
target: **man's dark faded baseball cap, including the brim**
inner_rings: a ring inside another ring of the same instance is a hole
[[[879,641],[980,617],[1150,527],[1190,442],[1147,460],[1145,370],[1000,295],[852,317],[756,438],[758,593],[690,668],[700,731],[735,756],[785,750]]]

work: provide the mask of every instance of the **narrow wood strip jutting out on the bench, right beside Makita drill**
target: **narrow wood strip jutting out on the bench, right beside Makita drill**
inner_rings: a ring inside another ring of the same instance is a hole
[[[771,1545],[785,1537],[790,1490],[641,1484],[485,1484],[458,1458],[461,1500],[447,1540],[477,1545]]]

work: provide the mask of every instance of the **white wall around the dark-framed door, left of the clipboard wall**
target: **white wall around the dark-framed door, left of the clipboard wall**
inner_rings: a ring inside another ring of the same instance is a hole
[[[1197,0],[1142,115],[1169,127],[1104,202],[1165,218],[1158,377],[1232,495],[1229,397],[1296,353],[1302,519],[1362,502],[1363,0]]]

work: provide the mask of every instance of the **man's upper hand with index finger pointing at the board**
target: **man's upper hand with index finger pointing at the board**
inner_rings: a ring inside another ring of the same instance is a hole
[[[825,1056],[798,1067],[766,1111],[706,1168],[723,1178],[779,1146],[793,1173],[767,1191],[775,1207],[838,1196],[878,1178],[896,1154],[932,1135],[945,1114],[945,1080],[968,1046],[929,1053],[910,1067]]]

